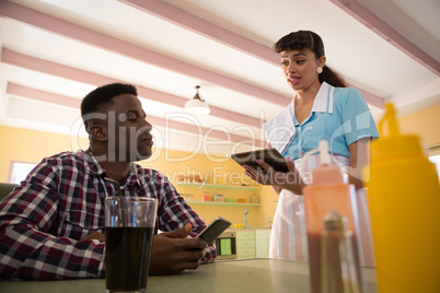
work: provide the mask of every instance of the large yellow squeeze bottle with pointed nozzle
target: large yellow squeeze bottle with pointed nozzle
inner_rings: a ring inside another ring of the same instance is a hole
[[[387,130],[387,131],[385,131]],[[440,292],[440,186],[417,136],[401,134],[386,105],[381,137],[363,169],[377,261],[378,292]],[[370,178],[368,180],[368,178]]]

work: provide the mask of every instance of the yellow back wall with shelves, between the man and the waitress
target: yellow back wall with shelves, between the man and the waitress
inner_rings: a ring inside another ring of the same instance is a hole
[[[159,154],[158,154],[159,153]],[[247,224],[251,227],[263,227],[265,215],[274,218],[277,196],[268,187],[262,187],[259,191],[187,187],[177,184],[177,178],[182,175],[199,175],[208,184],[231,185],[231,186],[253,186],[257,185],[243,174],[243,168],[230,159],[208,157],[204,154],[192,155],[187,152],[166,151],[162,149],[153,150],[153,156],[140,164],[160,171],[169,177],[181,194],[190,194],[192,200],[200,201],[204,195],[221,194],[225,198],[243,198],[247,202],[257,194],[260,207],[241,206],[205,206],[190,204],[192,208],[206,221],[211,222],[217,216],[222,216],[232,224],[244,224],[244,210],[248,210]],[[190,156],[190,157],[189,157]],[[260,186],[259,186],[260,187]]]

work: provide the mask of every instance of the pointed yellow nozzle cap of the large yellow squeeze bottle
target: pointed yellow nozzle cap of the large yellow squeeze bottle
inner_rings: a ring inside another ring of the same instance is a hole
[[[385,105],[385,115],[378,128],[380,139],[371,142],[371,162],[391,156],[422,154],[418,136],[401,134],[393,104]]]

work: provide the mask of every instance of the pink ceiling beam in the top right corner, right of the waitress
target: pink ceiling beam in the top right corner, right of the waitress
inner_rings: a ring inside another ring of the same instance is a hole
[[[394,47],[422,65],[432,73],[440,77],[440,62],[421,50],[417,45],[409,42],[384,21],[369,11],[356,0],[331,0],[334,4],[347,12],[354,19],[373,31],[380,37],[392,44]]]

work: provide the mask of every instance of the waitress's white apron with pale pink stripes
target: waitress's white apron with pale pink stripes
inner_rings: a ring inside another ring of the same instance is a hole
[[[304,175],[306,172],[319,164],[317,159],[317,155],[312,155],[305,164],[302,164],[301,159],[294,161],[297,169],[303,178],[308,177]],[[332,155],[332,161],[336,164],[348,164],[349,159]],[[356,200],[354,200],[357,206],[357,211],[354,212],[359,214],[356,235],[358,236],[361,266],[374,267],[370,214],[366,197],[364,189],[357,190]],[[302,196],[294,195],[289,190],[282,189],[279,194],[270,233],[269,258],[309,261]]]

